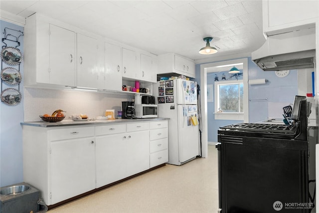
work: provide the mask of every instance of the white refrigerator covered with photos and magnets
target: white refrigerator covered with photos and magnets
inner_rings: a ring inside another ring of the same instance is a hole
[[[168,120],[168,164],[181,165],[199,155],[197,83],[183,79],[157,83],[158,116]]]

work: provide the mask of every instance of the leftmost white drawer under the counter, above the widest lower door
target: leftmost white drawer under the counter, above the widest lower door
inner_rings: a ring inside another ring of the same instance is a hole
[[[60,141],[73,138],[85,138],[94,136],[94,127],[72,127],[65,129],[49,130],[50,141]]]

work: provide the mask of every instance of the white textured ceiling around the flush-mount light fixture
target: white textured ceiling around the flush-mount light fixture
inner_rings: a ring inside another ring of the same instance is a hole
[[[0,9],[34,12],[154,54],[205,58],[250,53],[265,38],[261,0],[0,0]],[[200,55],[204,37],[218,52]]]

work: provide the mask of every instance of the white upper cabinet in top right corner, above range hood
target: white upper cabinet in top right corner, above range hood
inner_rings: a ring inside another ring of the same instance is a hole
[[[318,0],[263,0],[262,4],[263,30],[268,36],[302,29],[315,23],[319,16]]]

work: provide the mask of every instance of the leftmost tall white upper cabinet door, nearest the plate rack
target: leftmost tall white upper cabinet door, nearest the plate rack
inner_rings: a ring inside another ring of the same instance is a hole
[[[75,32],[50,24],[50,84],[75,86]]]

